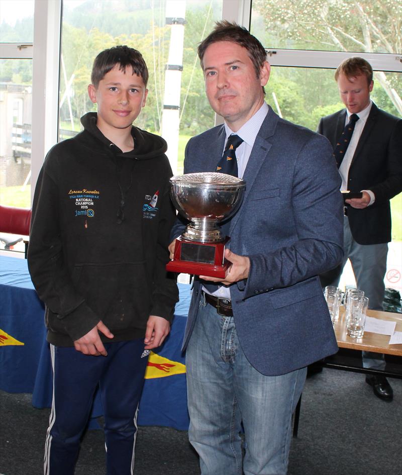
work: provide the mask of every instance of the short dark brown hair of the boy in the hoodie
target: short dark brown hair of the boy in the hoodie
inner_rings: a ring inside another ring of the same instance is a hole
[[[128,46],[113,46],[101,51],[93,61],[91,83],[97,87],[105,74],[117,64],[120,65],[119,69],[124,72],[128,66],[131,66],[134,74],[141,77],[147,87],[149,74],[144,58],[139,51]]]

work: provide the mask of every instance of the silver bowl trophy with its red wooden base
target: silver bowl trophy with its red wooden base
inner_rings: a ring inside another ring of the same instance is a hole
[[[170,178],[170,197],[177,211],[190,221],[176,239],[173,260],[167,270],[224,277],[229,237],[218,223],[240,207],[246,182],[224,173],[188,173]]]

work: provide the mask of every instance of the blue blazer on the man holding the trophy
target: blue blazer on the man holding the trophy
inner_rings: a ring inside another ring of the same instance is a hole
[[[223,125],[189,140],[184,173],[215,171]],[[250,257],[247,279],[230,287],[237,334],[250,363],[284,374],[337,351],[318,274],[343,254],[341,180],[328,140],[270,108],[243,176],[246,191],[230,220],[228,247]],[[178,219],[172,237],[184,228]],[[195,279],[183,349],[202,292]],[[218,318],[218,317],[217,317]]]

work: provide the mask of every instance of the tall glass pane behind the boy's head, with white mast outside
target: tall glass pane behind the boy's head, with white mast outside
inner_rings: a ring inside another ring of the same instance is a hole
[[[95,56],[114,45],[128,45],[144,56],[149,70],[148,99],[135,125],[163,135],[165,66],[168,63],[172,26],[166,17],[175,14],[174,4],[185,5],[184,44],[181,64],[178,165],[182,172],[184,147],[188,139],[214,125],[214,113],[205,95],[204,78],[196,45],[221,18],[222,0],[148,0],[141,2],[63,2],[63,36],[60,84],[60,140],[81,130],[80,117],[96,111],[88,98],[87,85]],[[168,11],[166,10],[168,7]],[[177,45],[173,44],[177,48]],[[181,56],[180,56],[181,58]],[[175,64],[179,64],[175,63]],[[165,137],[166,138],[166,137]],[[168,156],[173,151],[169,146]]]

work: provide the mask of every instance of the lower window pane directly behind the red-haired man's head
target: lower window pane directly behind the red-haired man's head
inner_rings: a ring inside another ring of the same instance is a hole
[[[316,130],[321,117],[344,108],[334,69],[274,66],[265,86],[266,101],[286,120]],[[371,98],[381,109],[401,117],[395,95],[402,95],[401,73],[374,73]]]

